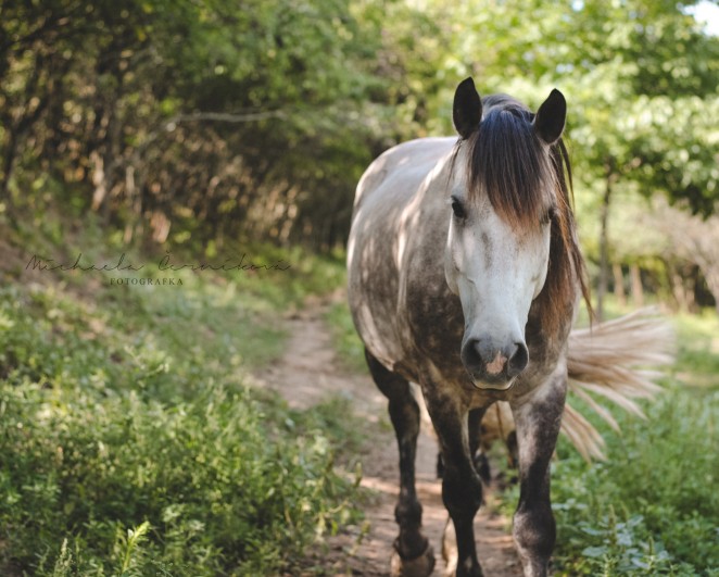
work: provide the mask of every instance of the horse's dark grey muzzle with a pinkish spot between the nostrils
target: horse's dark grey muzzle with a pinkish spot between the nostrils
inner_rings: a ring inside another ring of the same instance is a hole
[[[462,347],[462,363],[477,387],[506,390],[527,367],[529,351],[524,342],[497,347],[491,338],[468,339]]]

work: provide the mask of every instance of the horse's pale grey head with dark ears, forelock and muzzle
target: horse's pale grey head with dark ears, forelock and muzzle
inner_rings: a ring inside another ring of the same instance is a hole
[[[552,228],[566,217],[553,150],[565,117],[557,90],[537,114],[506,96],[482,102],[471,78],[454,97],[444,268],[465,317],[462,362],[479,388],[508,389],[529,362],[529,310],[547,279]]]

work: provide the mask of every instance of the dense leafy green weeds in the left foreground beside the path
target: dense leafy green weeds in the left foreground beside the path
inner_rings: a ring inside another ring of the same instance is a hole
[[[138,574],[151,560],[180,575],[263,573],[350,514],[328,439],[266,423],[247,392],[209,384],[163,406],[5,385],[0,403],[4,553],[22,567],[68,539],[80,574],[113,573],[126,565],[118,539],[147,522]]]

